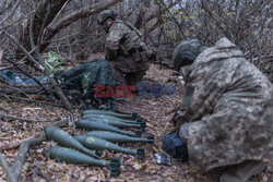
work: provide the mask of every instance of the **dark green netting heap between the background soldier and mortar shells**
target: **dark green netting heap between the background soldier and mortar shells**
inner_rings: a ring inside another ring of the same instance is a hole
[[[116,99],[111,97],[95,97],[95,84],[112,86],[116,81],[111,63],[104,59],[94,59],[75,66],[57,76],[66,90],[80,90],[85,108],[102,108],[116,110]]]

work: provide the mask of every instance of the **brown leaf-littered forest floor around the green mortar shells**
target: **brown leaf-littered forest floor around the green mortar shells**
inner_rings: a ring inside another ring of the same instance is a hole
[[[146,77],[166,82],[171,71],[159,69],[152,65]],[[119,178],[110,178],[107,168],[100,167],[82,167],[67,165],[49,159],[43,153],[44,149],[56,146],[52,141],[44,142],[41,145],[33,146],[25,160],[23,173],[20,181],[181,181],[181,182],[209,182],[217,181],[218,172],[201,173],[190,168],[188,162],[180,162],[171,158],[170,166],[157,165],[154,154],[163,153],[162,138],[167,134],[173,123],[169,122],[171,114],[167,114],[171,109],[180,104],[179,97],[171,98],[128,98],[126,104],[119,104],[118,110],[123,112],[138,112],[147,120],[147,129],[144,134],[152,133],[155,135],[153,146],[145,145],[145,159],[136,159],[133,156],[119,153],[105,153],[103,159],[108,160],[111,157],[122,157],[121,174]],[[75,110],[75,119],[80,119],[81,109]],[[0,119],[0,146],[7,145],[14,141],[24,139],[32,136],[44,135],[44,126],[50,125],[57,120],[67,119],[69,113],[61,107],[41,105],[37,102],[27,102],[22,100],[0,100],[0,113],[11,114],[14,117],[27,118],[33,121],[26,122],[12,119]],[[63,130],[73,132],[73,128],[63,128]],[[84,131],[76,129],[76,134]],[[123,144],[122,146],[136,149],[140,144]],[[17,149],[3,150],[10,166],[14,162]],[[7,181],[7,175],[0,168],[0,181]],[[273,181],[273,166],[268,161],[268,168],[258,177],[251,179],[251,182]]]

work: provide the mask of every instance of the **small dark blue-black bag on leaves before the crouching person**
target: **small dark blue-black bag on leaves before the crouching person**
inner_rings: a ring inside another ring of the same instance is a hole
[[[163,137],[163,149],[181,161],[189,161],[187,144],[177,135],[175,130]]]

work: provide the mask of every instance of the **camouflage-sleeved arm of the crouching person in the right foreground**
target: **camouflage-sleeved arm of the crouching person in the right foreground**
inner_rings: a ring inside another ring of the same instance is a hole
[[[221,66],[214,64],[214,68]],[[212,112],[213,107],[228,85],[226,77],[230,77],[229,74],[233,73],[222,66],[217,71],[215,69],[204,70],[191,75],[186,86],[182,107],[175,117],[177,130],[182,123],[197,121],[204,114]]]

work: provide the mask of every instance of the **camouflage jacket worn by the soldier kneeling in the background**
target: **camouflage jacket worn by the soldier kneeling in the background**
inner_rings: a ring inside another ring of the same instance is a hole
[[[124,22],[120,20],[114,22],[106,37],[105,47],[106,54],[115,52],[108,59],[123,73],[147,70],[147,59],[140,54],[146,51],[146,45]]]

